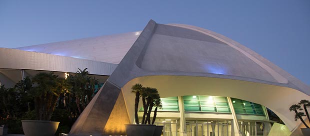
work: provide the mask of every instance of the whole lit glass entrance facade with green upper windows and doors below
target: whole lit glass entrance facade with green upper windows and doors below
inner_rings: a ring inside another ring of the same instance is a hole
[[[185,115],[196,115],[192,112],[199,112],[218,113],[217,115],[221,116],[221,114],[231,113],[230,103],[236,114],[242,114],[240,115],[242,117],[247,115],[256,115],[257,117],[257,120],[252,116],[247,116],[251,118],[249,120],[238,120],[239,131],[242,136],[263,136],[268,134],[268,126],[264,127],[264,122],[259,121],[263,118],[261,116],[264,116],[263,108],[259,104],[235,98],[230,98],[231,102],[228,102],[227,97],[218,96],[182,96],[182,99]],[[163,109],[158,109],[158,112],[164,111],[165,113],[163,113],[163,116],[157,114],[154,124],[163,126],[161,136],[180,136],[180,118],[175,116],[175,112],[179,111],[178,97],[161,98],[161,101]],[[170,115],[171,117],[169,117]],[[141,117],[139,117],[139,120],[141,120]],[[216,119],[216,117],[214,119],[213,116],[209,117],[205,114],[200,117],[185,116],[184,123],[187,136],[233,136],[233,132],[231,132],[233,129],[231,125],[232,119]]]

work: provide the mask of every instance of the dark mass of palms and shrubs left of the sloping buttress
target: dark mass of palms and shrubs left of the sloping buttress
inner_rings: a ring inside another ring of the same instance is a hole
[[[0,124],[8,126],[9,134],[23,134],[21,120],[51,120],[60,122],[56,134],[68,133],[98,83],[86,69],[78,69],[67,80],[41,72],[12,88],[0,86]]]

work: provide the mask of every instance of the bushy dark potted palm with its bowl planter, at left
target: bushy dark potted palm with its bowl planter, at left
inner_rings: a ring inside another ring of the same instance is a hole
[[[25,136],[53,136],[59,122],[49,121],[59,95],[66,89],[66,81],[50,73],[38,73],[32,78],[28,94],[33,98],[36,120],[23,120]]]

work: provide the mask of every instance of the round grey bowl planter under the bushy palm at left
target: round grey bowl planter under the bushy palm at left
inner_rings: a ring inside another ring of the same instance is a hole
[[[25,136],[54,136],[59,122],[52,121],[21,121]]]

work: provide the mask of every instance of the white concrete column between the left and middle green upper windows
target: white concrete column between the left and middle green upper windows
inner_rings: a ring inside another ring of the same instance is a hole
[[[178,96],[177,98],[178,98],[178,109],[180,111],[180,136],[187,136],[183,97]]]

